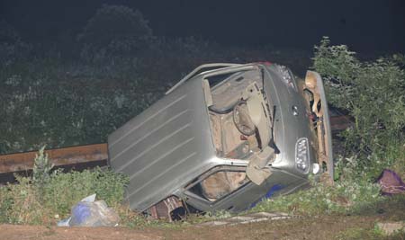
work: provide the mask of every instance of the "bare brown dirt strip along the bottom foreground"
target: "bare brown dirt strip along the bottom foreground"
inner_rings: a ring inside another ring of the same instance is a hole
[[[0,226],[0,239],[334,239],[347,229],[373,229],[385,216],[292,218],[232,227],[151,228]]]

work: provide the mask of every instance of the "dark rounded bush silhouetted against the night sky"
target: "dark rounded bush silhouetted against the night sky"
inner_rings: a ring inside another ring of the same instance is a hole
[[[152,30],[138,10],[106,5],[87,22],[78,40],[84,43],[86,59],[131,55],[148,46]]]

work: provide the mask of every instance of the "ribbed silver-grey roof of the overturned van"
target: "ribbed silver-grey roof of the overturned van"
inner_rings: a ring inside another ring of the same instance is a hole
[[[210,168],[215,155],[202,80],[193,79],[108,138],[110,164],[130,177],[131,209],[145,210]]]

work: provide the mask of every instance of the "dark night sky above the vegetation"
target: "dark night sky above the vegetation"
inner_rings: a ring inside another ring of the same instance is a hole
[[[405,1],[22,1],[0,0],[0,18],[25,39],[76,35],[102,4],[137,8],[156,35],[199,36],[222,44],[311,49],[322,36],[356,51],[405,50]],[[60,38],[60,37],[59,37]]]

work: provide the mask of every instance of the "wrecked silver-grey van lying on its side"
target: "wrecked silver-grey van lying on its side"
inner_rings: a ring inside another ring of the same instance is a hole
[[[131,209],[241,211],[333,176],[322,80],[271,63],[207,64],[108,138]]]

